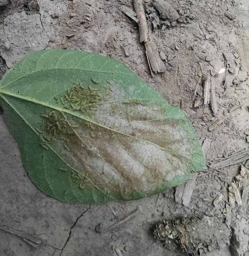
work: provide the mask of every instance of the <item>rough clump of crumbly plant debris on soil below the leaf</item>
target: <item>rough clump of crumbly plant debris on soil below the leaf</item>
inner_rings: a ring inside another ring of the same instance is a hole
[[[223,239],[228,239],[228,228],[222,223],[222,233],[213,233],[210,237],[208,230],[212,229],[211,223],[215,220],[207,216],[202,219],[184,218],[164,220],[154,229],[154,237],[164,242],[170,250],[180,251],[192,256],[205,255],[217,249]],[[214,242],[215,241],[215,242]]]

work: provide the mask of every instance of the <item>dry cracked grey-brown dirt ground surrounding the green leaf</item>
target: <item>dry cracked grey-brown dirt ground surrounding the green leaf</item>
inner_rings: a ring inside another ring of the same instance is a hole
[[[124,6],[133,10],[132,0],[0,0],[0,78],[27,53],[45,48],[111,56],[170,104],[182,107],[204,142],[208,165],[247,149],[249,2],[167,2],[177,20],[160,14],[155,1],[144,1],[151,37],[165,65],[153,78],[138,26],[121,11]],[[203,78],[209,70],[216,114],[203,105]],[[187,183],[190,188],[181,185],[139,201],[72,205],[46,196],[31,182],[0,113],[0,255],[183,255],[153,236],[157,223],[181,217],[202,220],[196,232],[210,244],[202,255],[249,255],[247,201],[232,205],[228,197],[248,154],[216,170],[207,166]],[[210,129],[216,120],[223,122]],[[185,200],[178,193],[184,188]]]

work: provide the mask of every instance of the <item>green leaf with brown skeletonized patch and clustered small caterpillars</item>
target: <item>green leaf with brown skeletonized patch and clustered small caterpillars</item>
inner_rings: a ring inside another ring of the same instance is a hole
[[[27,173],[61,201],[139,199],[204,167],[186,115],[111,58],[29,54],[3,77],[0,98]]]

